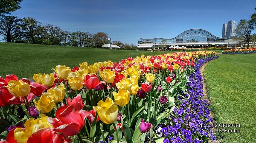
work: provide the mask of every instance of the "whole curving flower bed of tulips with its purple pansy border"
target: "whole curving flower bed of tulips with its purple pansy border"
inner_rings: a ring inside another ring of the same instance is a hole
[[[35,82],[0,77],[0,143],[207,142],[211,127],[197,127],[212,122],[198,68],[214,58],[212,51],[142,55],[58,65]],[[163,126],[175,135],[159,137]]]

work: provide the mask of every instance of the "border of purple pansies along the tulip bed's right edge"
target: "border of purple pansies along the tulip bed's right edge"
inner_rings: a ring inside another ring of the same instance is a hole
[[[190,97],[181,92],[181,95],[189,97],[183,100],[180,105],[173,110],[172,124],[160,125],[156,129],[159,137],[164,137],[164,143],[208,143],[209,140],[215,141],[215,136],[211,131],[212,118],[210,117],[209,103],[203,99],[203,80],[201,66],[218,56],[207,59],[200,59],[195,65],[195,73],[189,75],[187,89]]]

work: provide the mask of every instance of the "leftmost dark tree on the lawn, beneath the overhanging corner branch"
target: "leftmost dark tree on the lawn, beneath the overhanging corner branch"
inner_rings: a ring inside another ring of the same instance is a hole
[[[22,37],[20,19],[13,16],[3,16],[0,19],[0,35],[5,36],[6,42],[15,42]]]

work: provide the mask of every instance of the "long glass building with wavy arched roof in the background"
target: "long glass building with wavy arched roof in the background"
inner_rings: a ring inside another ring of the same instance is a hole
[[[203,29],[189,29],[182,32],[178,36],[171,39],[164,38],[153,38],[153,39],[143,39],[140,38],[139,45],[143,44],[153,44],[153,45],[187,45],[190,43],[215,43],[215,42],[235,42],[235,37],[220,38],[214,36],[210,32]]]

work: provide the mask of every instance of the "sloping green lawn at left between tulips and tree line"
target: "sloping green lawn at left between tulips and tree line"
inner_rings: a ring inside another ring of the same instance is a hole
[[[79,66],[81,62],[120,61],[141,54],[158,55],[167,51],[109,50],[52,45],[0,43],[0,76],[16,74],[18,78],[31,78],[35,73],[50,73],[51,68],[63,64]]]

